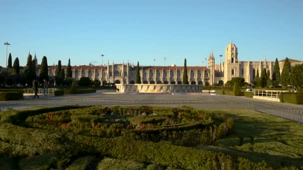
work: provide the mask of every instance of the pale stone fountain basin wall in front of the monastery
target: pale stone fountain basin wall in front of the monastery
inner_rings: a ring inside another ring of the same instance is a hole
[[[202,85],[116,84],[119,92],[202,92]]]

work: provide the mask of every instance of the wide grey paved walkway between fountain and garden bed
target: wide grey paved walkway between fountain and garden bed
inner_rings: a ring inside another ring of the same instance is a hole
[[[74,94],[64,96],[48,95],[33,99],[27,95],[23,100],[1,101],[0,109],[21,109],[33,106],[63,105],[156,105],[156,106],[190,106],[194,108],[217,109],[254,109],[279,117],[303,123],[303,105],[280,103],[248,98],[245,96],[211,95],[212,93],[117,93],[98,90],[96,93]]]

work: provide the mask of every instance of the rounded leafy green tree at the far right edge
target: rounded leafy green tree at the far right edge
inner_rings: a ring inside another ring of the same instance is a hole
[[[292,68],[291,85],[297,88],[303,87],[303,64],[297,64]]]

